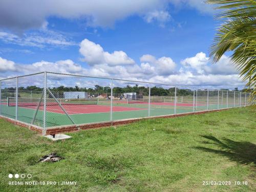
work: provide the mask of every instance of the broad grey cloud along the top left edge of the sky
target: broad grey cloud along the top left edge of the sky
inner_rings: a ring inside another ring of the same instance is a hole
[[[46,18],[57,16],[62,18],[84,18],[89,26],[109,27],[116,20],[131,15],[145,15],[155,9],[161,10],[168,1],[140,0],[73,0],[50,1],[8,0],[0,2],[0,26],[24,30],[40,28],[45,25]]]

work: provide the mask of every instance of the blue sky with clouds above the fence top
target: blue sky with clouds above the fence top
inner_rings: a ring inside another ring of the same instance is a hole
[[[209,58],[215,14],[201,0],[2,0],[0,78],[49,71],[243,89],[230,53]]]

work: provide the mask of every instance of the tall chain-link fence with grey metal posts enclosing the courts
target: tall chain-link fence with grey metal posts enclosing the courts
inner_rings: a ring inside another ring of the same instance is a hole
[[[42,130],[250,105],[249,93],[42,72],[0,81],[0,114]]]

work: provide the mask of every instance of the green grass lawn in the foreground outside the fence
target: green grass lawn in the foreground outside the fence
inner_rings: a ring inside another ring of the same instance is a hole
[[[0,120],[0,191],[255,191],[255,117],[255,108],[246,107],[142,120],[70,133],[71,139],[58,142]],[[37,163],[52,152],[65,159]],[[10,173],[32,178],[9,179]],[[77,184],[10,186],[9,181]]]

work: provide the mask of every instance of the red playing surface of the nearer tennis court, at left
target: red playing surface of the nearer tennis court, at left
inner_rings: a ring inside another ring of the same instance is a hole
[[[90,105],[62,105],[62,107],[67,111],[69,115],[73,114],[88,114],[88,113],[107,113],[110,112],[111,106],[106,105],[97,105],[97,104],[90,104]],[[33,109],[36,110],[36,106],[23,106],[26,109]],[[63,110],[58,105],[48,105],[47,112],[52,113],[60,113],[65,114]],[[39,110],[43,111],[44,106],[40,106]],[[124,106],[113,106],[113,112],[122,112],[122,111],[138,111],[138,110],[147,110],[146,108],[127,108]]]

